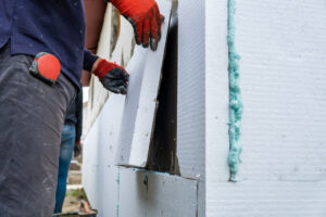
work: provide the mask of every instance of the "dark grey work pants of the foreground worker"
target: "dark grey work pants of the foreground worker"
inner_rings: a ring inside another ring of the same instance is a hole
[[[50,217],[60,136],[76,88],[63,75],[51,87],[28,72],[29,55],[0,49],[0,216]]]

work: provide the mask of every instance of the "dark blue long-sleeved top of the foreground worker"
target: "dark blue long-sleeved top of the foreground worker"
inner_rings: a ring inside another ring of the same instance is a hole
[[[78,86],[83,69],[96,56],[84,50],[85,17],[82,0],[1,0],[0,48],[11,42],[12,54],[54,54],[62,73]],[[85,59],[85,60],[84,60]]]

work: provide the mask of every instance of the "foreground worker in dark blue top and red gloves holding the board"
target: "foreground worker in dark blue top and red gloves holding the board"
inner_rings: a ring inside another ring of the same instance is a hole
[[[137,44],[160,39],[154,0],[111,0]],[[60,136],[82,68],[125,94],[128,74],[84,49],[82,0],[2,0],[0,4],[0,215],[53,213]]]

